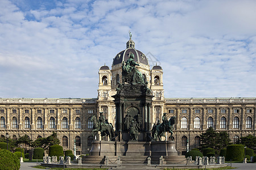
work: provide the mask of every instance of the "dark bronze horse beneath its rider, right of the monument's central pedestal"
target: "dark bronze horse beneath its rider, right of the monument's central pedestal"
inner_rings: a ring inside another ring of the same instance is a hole
[[[159,141],[161,141],[161,137],[164,137],[166,140],[166,135],[164,135],[166,132],[171,133],[171,140],[174,141],[174,137],[172,136],[173,131],[174,130],[174,124],[176,121],[176,116],[172,116],[167,124],[160,124],[160,122],[158,122],[158,124],[154,124],[153,128],[152,128],[152,136],[154,138],[155,141],[157,141],[157,139],[159,139]]]

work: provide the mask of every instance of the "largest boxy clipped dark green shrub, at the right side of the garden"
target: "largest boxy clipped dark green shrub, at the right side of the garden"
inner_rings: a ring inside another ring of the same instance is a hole
[[[234,161],[242,161],[245,154],[244,146],[241,144],[233,144],[226,147],[226,161],[230,159]]]

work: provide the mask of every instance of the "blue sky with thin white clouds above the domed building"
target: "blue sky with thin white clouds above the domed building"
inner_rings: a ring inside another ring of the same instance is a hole
[[[95,98],[126,48],[163,68],[164,97],[256,97],[256,1],[0,1],[0,97]]]

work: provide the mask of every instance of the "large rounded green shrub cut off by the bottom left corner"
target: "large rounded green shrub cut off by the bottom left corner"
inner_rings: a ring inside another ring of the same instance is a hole
[[[0,150],[0,169],[1,170],[19,170],[20,163],[17,156],[7,150]]]

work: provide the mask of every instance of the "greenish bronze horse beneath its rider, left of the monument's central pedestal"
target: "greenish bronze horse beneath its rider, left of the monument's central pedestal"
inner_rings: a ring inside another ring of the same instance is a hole
[[[90,118],[90,121],[93,122],[93,139],[96,139],[96,134],[98,134],[98,131],[101,132],[101,140],[104,140],[106,136],[109,136],[110,141],[114,137],[114,130],[112,124],[104,124],[101,125],[101,122],[97,120],[96,116],[92,116]]]

